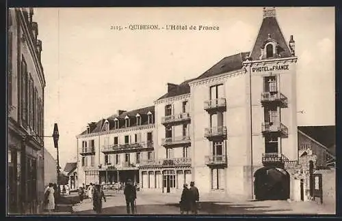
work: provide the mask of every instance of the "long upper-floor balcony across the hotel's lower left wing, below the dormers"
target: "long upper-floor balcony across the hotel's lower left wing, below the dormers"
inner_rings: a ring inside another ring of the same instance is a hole
[[[149,151],[153,150],[153,142],[127,143],[123,145],[103,145],[103,153],[129,153],[135,151]]]

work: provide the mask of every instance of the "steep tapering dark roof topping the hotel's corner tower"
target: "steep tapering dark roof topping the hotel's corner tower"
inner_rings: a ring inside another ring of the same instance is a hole
[[[261,23],[257,40],[254,43],[252,52],[250,53],[250,57],[253,61],[259,60],[259,57],[261,56],[261,48],[263,48],[264,43],[267,41],[269,35],[272,40],[276,41],[278,46],[281,48],[279,53],[280,57],[292,57],[290,48],[285,41],[284,35],[282,35],[282,31],[274,14],[274,16],[264,16],[263,18],[263,23]]]

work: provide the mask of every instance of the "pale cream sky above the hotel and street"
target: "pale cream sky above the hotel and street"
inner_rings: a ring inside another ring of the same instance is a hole
[[[298,126],[335,125],[334,8],[276,8],[298,56]],[[91,121],[153,105],[223,57],[252,50],[263,8],[36,8],[44,68],[44,133],[60,130],[60,166],[77,160]],[[118,31],[111,26],[203,25],[218,31]],[[45,147],[56,156],[51,138]]]

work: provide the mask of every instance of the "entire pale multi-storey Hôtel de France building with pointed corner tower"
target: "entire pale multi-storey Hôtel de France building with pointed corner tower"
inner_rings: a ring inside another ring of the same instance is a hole
[[[119,112],[101,126],[90,125],[88,133],[77,136],[79,183],[131,178],[143,191],[168,193],[195,181],[201,194],[300,201],[298,58],[289,37],[286,42],[275,8],[264,8],[250,52],[224,57],[180,85],[168,83],[167,93],[144,111]],[[148,117],[146,124],[135,124],[137,116]],[[103,129],[105,123],[109,128]],[[94,146],[97,151],[81,151]],[[86,175],[83,161],[88,154],[94,158],[92,175]],[[108,162],[112,166],[103,167]],[[263,185],[274,185],[269,174],[282,183],[276,192]]]

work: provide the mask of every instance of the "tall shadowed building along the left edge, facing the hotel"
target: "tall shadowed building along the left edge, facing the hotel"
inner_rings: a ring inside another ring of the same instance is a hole
[[[36,213],[44,198],[42,42],[33,8],[8,10],[8,213]]]

